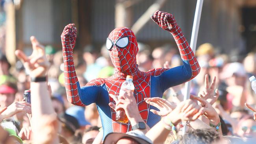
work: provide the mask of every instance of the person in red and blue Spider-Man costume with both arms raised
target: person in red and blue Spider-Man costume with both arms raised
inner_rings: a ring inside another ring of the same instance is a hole
[[[133,76],[134,96],[139,113],[147,125],[152,127],[160,120],[160,116],[149,111],[156,108],[148,105],[144,98],[162,96],[166,89],[195,78],[200,71],[197,59],[173,15],[158,10],[151,18],[158,26],[173,35],[183,61],[182,66],[140,71],[136,63],[138,45],[134,33],[125,27],[115,28],[106,41],[111,61],[115,66],[115,74],[105,79],[94,79],[86,86],[80,87],[72,57],[76,41],[74,24],[67,25],[61,34],[67,98],[70,103],[79,106],[96,103],[104,137],[111,132],[126,133],[131,130],[129,122],[124,124],[115,121],[115,111],[108,105],[109,102],[113,102],[109,94],[119,95],[121,84],[127,75]]]

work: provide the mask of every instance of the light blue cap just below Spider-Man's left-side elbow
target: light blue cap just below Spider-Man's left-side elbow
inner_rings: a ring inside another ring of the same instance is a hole
[[[69,114],[70,116],[74,116],[78,120],[78,123],[80,126],[90,125],[90,123],[85,120],[84,107],[80,107],[80,106],[69,107],[66,110],[66,114]]]

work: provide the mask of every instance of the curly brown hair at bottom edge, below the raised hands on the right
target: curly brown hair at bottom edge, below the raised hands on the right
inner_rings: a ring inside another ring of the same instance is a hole
[[[195,129],[188,131],[179,144],[211,144],[220,139],[220,135],[215,129]]]

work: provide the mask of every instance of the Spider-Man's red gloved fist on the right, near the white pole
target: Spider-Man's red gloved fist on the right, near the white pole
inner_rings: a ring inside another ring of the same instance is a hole
[[[151,18],[162,29],[170,31],[177,26],[176,20],[173,15],[157,10]]]

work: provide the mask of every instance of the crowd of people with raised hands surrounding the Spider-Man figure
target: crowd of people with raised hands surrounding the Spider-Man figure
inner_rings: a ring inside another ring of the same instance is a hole
[[[161,116],[153,127],[103,137],[102,122],[95,103],[86,107],[67,101],[63,51],[42,46],[31,37],[33,52],[21,50],[11,66],[0,55],[0,143],[1,144],[253,144],[256,139],[256,94],[249,77],[256,75],[256,54],[230,58],[217,54],[205,43],[197,48],[200,73],[192,80],[190,99],[184,100],[184,84],[167,89],[163,97],[145,98],[156,107],[150,113]],[[151,49],[139,43],[139,70],[173,68],[182,65],[176,46]],[[151,51],[152,50],[152,51]],[[83,54],[73,52],[80,86],[95,78],[112,76],[108,49],[85,46]],[[45,78],[47,76],[47,79]],[[35,79],[39,78],[39,79]],[[41,78],[41,79],[40,79]],[[31,103],[24,100],[30,89]],[[140,119],[132,90],[123,89],[122,100],[110,95],[130,121]],[[122,106],[120,106],[122,105]],[[185,128],[186,127],[186,128]]]

